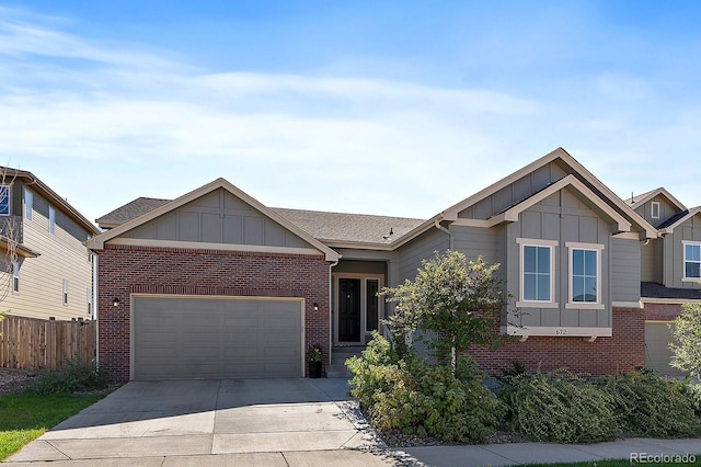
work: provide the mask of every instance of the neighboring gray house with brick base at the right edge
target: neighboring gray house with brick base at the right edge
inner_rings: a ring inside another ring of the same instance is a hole
[[[668,375],[669,323],[686,303],[701,301],[701,207],[687,208],[659,187],[627,200],[655,226],[658,238],[641,247],[641,303],[645,309],[645,364]]]

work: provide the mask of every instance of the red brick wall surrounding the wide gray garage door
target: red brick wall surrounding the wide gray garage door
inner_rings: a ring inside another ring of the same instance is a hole
[[[107,244],[99,252],[97,274],[97,352],[100,365],[115,379],[129,379],[133,293],[304,298],[304,348],[319,343],[329,358],[324,257]],[[113,305],[115,297],[118,307]]]

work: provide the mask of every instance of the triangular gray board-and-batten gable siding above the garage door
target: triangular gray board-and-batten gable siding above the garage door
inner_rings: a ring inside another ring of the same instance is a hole
[[[223,189],[136,227],[125,238],[313,248]]]

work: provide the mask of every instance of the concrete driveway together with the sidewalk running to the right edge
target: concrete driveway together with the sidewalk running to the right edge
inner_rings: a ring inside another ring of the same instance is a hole
[[[701,440],[393,449],[364,420],[348,396],[347,380],[296,378],[129,383],[55,426],[7,463],[51,467],[452,467],[631,459],[631,455],[641,464],[652,464],[654,456],[671,456],[671,463],[677,460],[674,456],[680,456],[689,463],[689,455],[696,455],[699,464]]]

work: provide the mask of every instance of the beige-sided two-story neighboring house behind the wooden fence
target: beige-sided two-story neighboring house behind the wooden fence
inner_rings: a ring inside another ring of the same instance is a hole
[[[100,230],[31,172],[0,168],[0,309],[57,320],[93,315]]]

